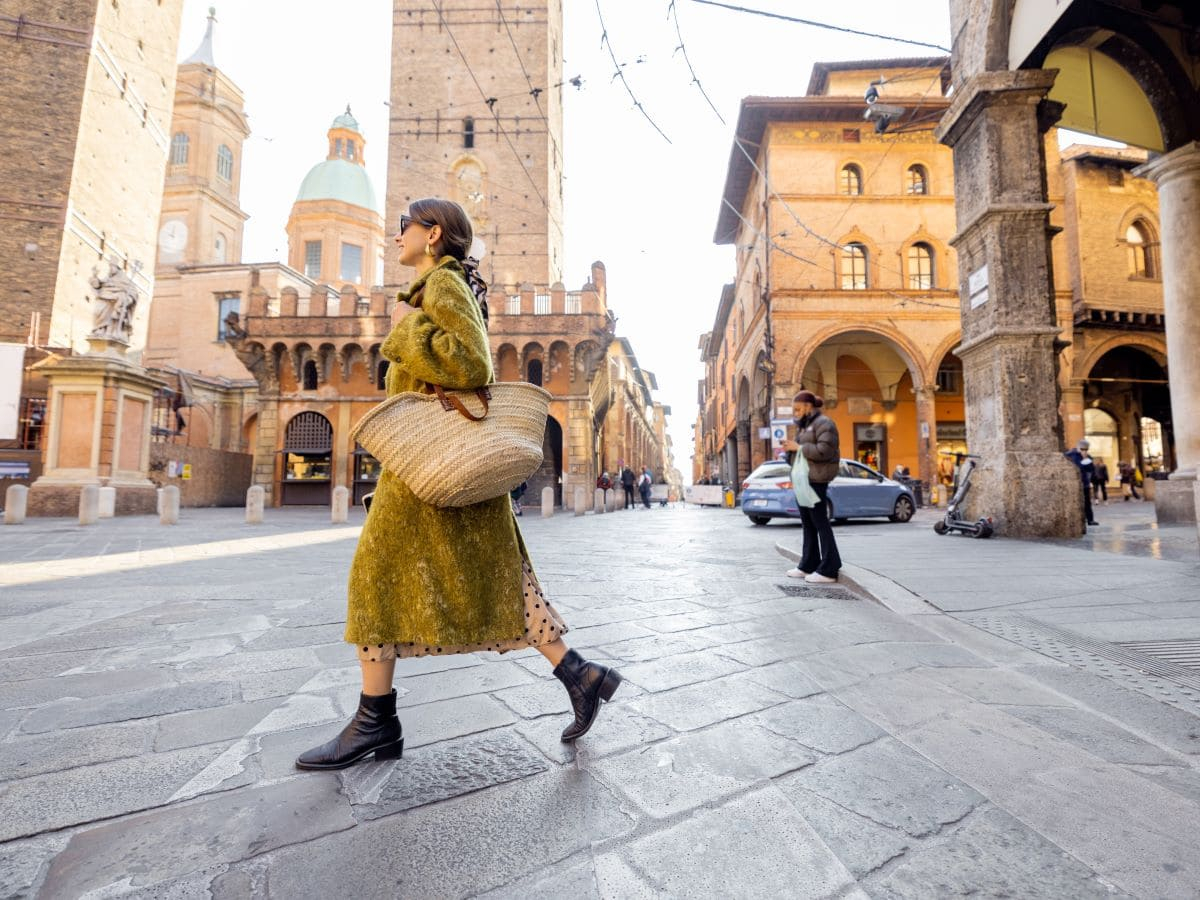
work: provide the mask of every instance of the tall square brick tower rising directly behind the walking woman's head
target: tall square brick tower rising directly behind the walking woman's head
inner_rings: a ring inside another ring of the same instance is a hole
[[[463,205],[499,287],[563,266],[563,4],[394,0],[389,234],[409,200]],[[410,274],[388,254],[384,281]]]

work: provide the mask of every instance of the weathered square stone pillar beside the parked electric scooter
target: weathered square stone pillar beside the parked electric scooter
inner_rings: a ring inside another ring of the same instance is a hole
[[[1082,534],[1079,476],[1062,455],[1058,323],[1043,134],[1055,72],[983,72],[937,138],[954,150],[967,445],[982,460],[967,515],[1021,538]]]

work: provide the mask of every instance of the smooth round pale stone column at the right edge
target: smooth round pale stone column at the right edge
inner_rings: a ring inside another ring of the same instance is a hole
[[[1158,186],[1163,314],[1170,365],[1176,469],[1156,487],[1159,522],[1196,522],[1200,508],[1200,142],[1134,170]]]

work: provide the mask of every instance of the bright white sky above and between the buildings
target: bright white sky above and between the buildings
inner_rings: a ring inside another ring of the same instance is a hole
[[[199,44],[210,2],[185,0],[180,59]],[[654,398],[672,410],[676,466],[690,480],[703,378],[697,343],[712,329],[721,286],[736,277],[733,250],[714,245],[713,232],[740,98],[803,95],[815,61],[936,50],[676,0],[686,56],[714,112],[677,50],[670,0],[599,0],[610,44],[652,125],[613,79],[596,0],[563,2],[563,76],[583,78],[582,89],[563,95],[563,281],[578,288],[592,262],[604,262],[617,334],[655,374]],[[948,0],[739,5],[949,47]],[[215,60],[241,88],[252,130],[242,156],[244,262],[286,258],[296,190],[324,160],[325,132],[347,103],[382,202],[390,44],[390,0],[217,0]]]

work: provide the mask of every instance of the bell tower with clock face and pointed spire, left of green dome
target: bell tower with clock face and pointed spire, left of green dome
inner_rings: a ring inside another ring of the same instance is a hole
[[[216,66],[212,26],[179,66],[170,156],[158,227],[160,271],[241,262],[241,145],[250,137],[241,90]]]

